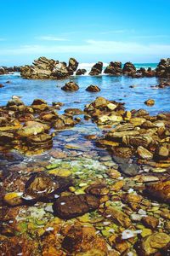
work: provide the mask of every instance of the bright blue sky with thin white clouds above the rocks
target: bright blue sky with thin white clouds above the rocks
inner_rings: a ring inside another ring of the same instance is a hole
[[[170,57],[170,0],[0,0],[0,66]]]

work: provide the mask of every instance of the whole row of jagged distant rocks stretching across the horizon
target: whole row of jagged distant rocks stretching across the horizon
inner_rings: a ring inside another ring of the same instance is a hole
[[[76,75],[84,75],[86,69],[77,69],[78,61],[75,58],[70,58],[68,65],[62,61],[54,61],[46,57],[40,57],[33,61],[32,65],[26,65],[22,67],[0,67],[0,75],[20,72],[20,75],[24,79],[67,79],[74,73]],[[164,79],[170,79],[170,59],[161,59],[156,69],[145,69],[141,67],[136,69],[132,62],[126,62],[122,65],[120,61],[111,61],[108,67],[105,67],[103,71],[103,62],[99,61],[94,64],[89,72],[91,76],[98,76],[101,73],[113,76],[126,75],[132,78],[151,78],[158,77]]]

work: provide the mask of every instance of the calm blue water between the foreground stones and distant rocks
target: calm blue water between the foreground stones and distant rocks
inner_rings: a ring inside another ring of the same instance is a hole
[[[9,80],[10,83],[5,82]],[[80,89],[76,92],[65,92],[60,88],[69,80],[76,82]],[[81,108],[94,101],[96,96],[104,96],[109,100],[125,102],[128,110],[144,108],[150,114],[167,112],[170,110],[170,88],[156,89],[150,86],[159,84],[156,78],[131,79],[127,77],[113,76],[73,76],[65,80],[27,80],[21,79],[20,74],[0,76],[0,105],[5,105],[11,96],[22,96],[23,102],[31,104],[33,99],[42,98],[51,104],[52,102],[64,102],[65,108]],[[101,91],[91,93],[85,89],[89,84],[96,84]],[[129,86],[134,85],[134,88]],[[144,105],[144,101],[153,98],[156,104],[153,107]]]

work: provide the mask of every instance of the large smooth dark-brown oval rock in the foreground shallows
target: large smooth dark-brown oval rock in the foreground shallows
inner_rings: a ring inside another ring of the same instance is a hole
[[[99,199],[94,195],[61,196],[54,202],[54,215],[59,218],[75,218],[99,207]]]

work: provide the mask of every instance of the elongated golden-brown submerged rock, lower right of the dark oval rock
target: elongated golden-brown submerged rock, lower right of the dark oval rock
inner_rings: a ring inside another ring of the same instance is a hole
[[[131,220],[128,218],[127,214],[116,207],[108,207],[103,214],[105,218],[111,219],[122,227],[127,228],[131,225]]]

